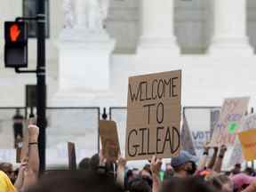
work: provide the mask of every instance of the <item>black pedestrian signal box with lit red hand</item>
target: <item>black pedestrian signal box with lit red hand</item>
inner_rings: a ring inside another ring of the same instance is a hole
[[[4,22],[5,68],[28,67],[28,26],[25,22]]]

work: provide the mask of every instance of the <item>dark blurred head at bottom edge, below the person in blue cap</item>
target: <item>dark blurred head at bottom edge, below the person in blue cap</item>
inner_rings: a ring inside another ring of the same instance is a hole
[[[207,185],[204,180],[196,178],[172,178],[171,180],[165,180],[162,192],[169,192],[170,188],[172,188],[172,192],[217,192],[210,185]]]

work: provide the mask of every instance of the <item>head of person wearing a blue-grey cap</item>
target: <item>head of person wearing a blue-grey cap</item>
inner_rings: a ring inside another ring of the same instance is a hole
[[[172,168],[174,170],[174,177],[187,178],[191,171],[193,171],[193,163],[196,164],[198,158],[192,156],[188,151],[181,150],[179,156],[172,157]]]

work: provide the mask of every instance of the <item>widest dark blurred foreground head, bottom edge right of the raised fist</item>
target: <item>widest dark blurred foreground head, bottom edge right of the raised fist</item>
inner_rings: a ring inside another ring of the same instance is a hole
[[[113,177],[96,172],[62,171],[51,172],[42,177],[36,186],[27,192],[121,192],[122,188],[116,186]]]

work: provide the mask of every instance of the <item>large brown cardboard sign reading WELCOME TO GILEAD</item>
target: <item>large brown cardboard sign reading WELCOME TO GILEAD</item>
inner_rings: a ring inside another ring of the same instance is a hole
[[[180,96],[180,70],[129,78],[127,160],[179,155]]]

